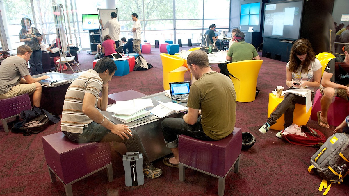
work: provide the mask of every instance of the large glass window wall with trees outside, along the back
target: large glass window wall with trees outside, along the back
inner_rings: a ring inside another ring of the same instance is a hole
[[[82,14],[97,14],[97,8],[105,9],[105,1],[96,0],[3,0],[0,1],[2,19],[6,41],[10,50],[16,49],[23,43],[18,34],[21,30],[22,17],[32,20],[32,27],[36,27],[43,36],[43,43],[50,44],[56,37],[54,27],[52,2],[62,4],[65,10],[65,20],[68,42],[77,44],[80,48],[89,48],[88,31],[82,30]],[[142,40],[150,43],[166,39],[182,40],[183,44],[192,39],[193,43],[200,43],[200,33],[205,33],[209,25],[216,24],[216,29],[229,29],[230,0],[116,0],[121,37],[133,37],[131,32],[132,13],[138,14],[141,21]],[[4,45],[2,43],[2,45]]]

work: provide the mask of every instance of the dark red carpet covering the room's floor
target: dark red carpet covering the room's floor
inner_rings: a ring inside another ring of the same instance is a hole
[[[182,47],[188,50],[190,47]],[[80,68],[92,68],[93,56],[79,54]],[[261,55],[261,54],[260,54]],[[133,71],[126,76],[113,76],[109,83],[109,94],[129,89],[150,95],[163,91],[162,63],[158,48],[151,48],[144,58],[154,68],[146,71]],[[289,144],[275,137],[279,130],[261,134],[258,129],[267,120],[269,92],[277,85],[286,86],[286,63],[262,58],[257,88],[261,90],[255,101],[237,103],[236,127],[250,132],[257,138],[251,149],[242,152],[240,172],[227,175],[225,195],[322,195],[318,191],[321,178],[308,173],[309,161],[316,148]],[[73,67],[76,69],[75,67]],[[212,68],[219,72],[217,65]],[[72,71],[65,71],[72,73]],[[190,80],[187,72],[185,80]],[[224,100],[222,100],[224,104]],[[54,103],[52,103],[54,104]],[[45,108],[44,108],[45,109]],[[344,120],[344,119],[343,119]],[[8,120],[13,126],[14,119]],[[1,123],[0,123],[1,124]],[[335,127],[320,128],[318,123],[309,120],[307,125],[321,130],[327,137]],[[49,126],[42,133],[31,136],[5,133],[0,125],[0,195],[65,195],[62,183],[51,183],[42,146],[42,136],[60,131],[60,122]],[[151,141],[149,141],[151,142]],[[178,168],[163,165],[162,159],[154,165],[163,169],[157,179],[145,179],[142,186],[126,187],[122,156],[111,146],[114,181],[108,182],[105,171],[99,171],[72,185],[74,195],[217,195],[218,179],[186,169],[186,180],[179,181]],[[148,152],[151,153],[151,152]],[[332,184],[328,196],[348,195],[349,179],[342,184]]]

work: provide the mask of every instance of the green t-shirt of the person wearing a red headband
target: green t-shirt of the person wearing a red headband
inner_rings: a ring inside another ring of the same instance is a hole
[[[229,47],[227,56],[231,57],[232,62],[252,60],[258,56],[256,48],[245,41],[237,42]]]

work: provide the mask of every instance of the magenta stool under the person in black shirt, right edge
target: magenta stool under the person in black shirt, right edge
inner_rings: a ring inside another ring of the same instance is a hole
[[[318,121],[318,111],[321,111],[321,93],[318,89],[314,96],[314,104],[311,111],[310,119]],[[329,106],[327,112],[327,121],[329,125],[338,126],[349,114],[349,101],[340,97],[335,97],[335,101]]]

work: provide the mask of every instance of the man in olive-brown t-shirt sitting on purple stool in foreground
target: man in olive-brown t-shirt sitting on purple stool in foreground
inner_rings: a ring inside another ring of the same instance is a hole
[[[220,140],[231,134],[236,121],[236,93],[231,80],[210,68],[204,51],[191,52],[187,64],[197,80],[190,87],[188,113],[183,119],[166,118],[161,123],[166,146],[174,155],[163,160],[170,167],[179,167],[177,134],[205,141]]]

